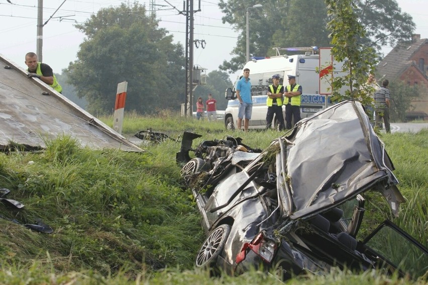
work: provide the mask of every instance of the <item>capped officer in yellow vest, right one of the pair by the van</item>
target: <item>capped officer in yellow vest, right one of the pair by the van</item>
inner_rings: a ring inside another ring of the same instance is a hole
[[[287,121],[287,129],[291,128],[291,120],[294,117],[294,123],[300,120],[300,100],[302,95],[302,87],[296,84],[296,77],[288,75],[288,85],[285,86],[285,120]]]

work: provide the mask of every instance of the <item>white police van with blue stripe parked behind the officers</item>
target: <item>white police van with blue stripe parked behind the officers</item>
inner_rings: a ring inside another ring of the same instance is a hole
[[[302,48],[303,49],[303,48]],[[300,116],[310,116],[325,108],[325,95],[319,94],[319,74],[315,71],[319,67],[319,55],[306,52],[304,55],[280,55],[270,58],[252,58],[244,66],[250,69],[251,95],[253,110],[248,128],[262,129],[266,127],[266,90],[272,84],[272,75],[279,74],[279,84],[288,85],[287,75],[296,76],[296,83],[302,86],[300,103]],[[336,68],[336,67],[335,67]],[[337,73],[337,72],[335,72]],[[239,76],[238,80],[243,75]],[[284,78],[286,78],[284,82]],[[237,80],[237,82],[238,82]],[[225,111],[225,126],[235,129],[238,119],[239,101],[236,97],[235,87],[226,90],[226,99],[229,100]],[[330,102],[328,101],[330,105]],[[285,105],[282,107],[285,119]],[[294,124],[294,123],[293,123]],[[272,128],[277,128],[278,121],[274,117]]]

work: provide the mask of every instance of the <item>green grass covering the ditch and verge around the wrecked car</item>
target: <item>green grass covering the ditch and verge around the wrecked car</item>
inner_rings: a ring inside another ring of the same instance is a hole
[[[112,117],[101,118],[108,125]],[[251,147],[266,148],[280,133],[224,130],[223,122],[197,121],[165,112],[157,117],[128,114],[123,133],[152,128],[178,137],[184,130],[202,140],[240,136]],[[380,195],[369,197],[373,226],[389,218],[428,245],[428,130],[380,134],[386,144],[401,193],[407,202],[398,218]],[[334,147],[334,141],[332,141]],[[70,137],[47,141],[43,152],[0,154],[0,188],[21,210],[0,204],[0,284],[260,284],[280,283],[273,275],[251,271],[210,278],[193,268],[204,239],[190,192],[183,188],[170,139],[141,145],[146,153],[82,149]],[[53,233],[31,231],[37,220]],[[364,234],[364,233],[363,233]],[[398,245],[397,245],[398,246]],[[299,276],[287,284],[414,284],[379,272],[335,271]]]

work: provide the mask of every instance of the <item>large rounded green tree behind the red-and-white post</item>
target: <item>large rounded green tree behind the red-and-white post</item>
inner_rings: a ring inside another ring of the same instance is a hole
[[[139,4],[101,9],[76,25],[87,39],[67,68],[92,113],[112,111],[117,84],[128,82],[126,109],[153,113],[184,101],[184,52]]]

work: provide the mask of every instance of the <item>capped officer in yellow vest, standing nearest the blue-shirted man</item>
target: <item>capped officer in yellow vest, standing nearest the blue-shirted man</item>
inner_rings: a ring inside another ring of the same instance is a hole
[[[272,126],[273,115],[275,114],[276,120],[279,124],[279,130],[285,128],[284,125],[284,116],[282,115],[282,94],[284,93],[284,86],[279,84],[279,74],[272,76],[272,85],[269,85],[267,88],[266,94],[268,95],[266,99],[266,105],[268,110],[266,113],[266,128],[269,129]]]

